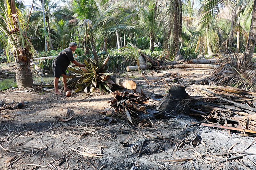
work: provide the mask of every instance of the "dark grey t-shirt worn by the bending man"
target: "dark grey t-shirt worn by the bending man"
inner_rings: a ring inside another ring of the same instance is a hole
[[[70,61],[75,61],[70,48],[60,51],[59,55],[52,61],[60,67],[61,70],[67,70]]]

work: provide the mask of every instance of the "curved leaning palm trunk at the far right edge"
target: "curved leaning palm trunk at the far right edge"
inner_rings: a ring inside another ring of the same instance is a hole
[[[255,47],[255,42],[256,42],[256,0],[254,0],[254,3],[253,3],[252,20],[251,20],[251,26],[250,26],[246,48],[244,51],[244,55],[241,58],[243,63],[246,64],[251,61],[252,54]]]

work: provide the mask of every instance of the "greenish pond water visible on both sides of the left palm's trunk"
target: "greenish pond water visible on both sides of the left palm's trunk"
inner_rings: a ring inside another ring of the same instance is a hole
[[[33,84],[44,85],[44,84],[49,84],[47,82],[53,81],[54,77],[52,75],[47,75],[44,77],[33,77],[33,80],[34,80]],[[51,83],[51,85],[53,85],[53,83]],[[15,77],[0,79],[0,90],[7,89],[10,87],[17,87]]]

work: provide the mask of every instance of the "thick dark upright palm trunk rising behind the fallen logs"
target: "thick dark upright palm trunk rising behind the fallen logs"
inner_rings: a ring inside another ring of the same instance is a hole
[[[175,48],[175,61],[183,60],[183,56],[180,54],[179,43],[180,43],[180,36],[181,36],[181,28],[182,28],[182,6],[181,0],[175,0],[177,6],[173,12],[173,38],[175,41],[174,48]]]

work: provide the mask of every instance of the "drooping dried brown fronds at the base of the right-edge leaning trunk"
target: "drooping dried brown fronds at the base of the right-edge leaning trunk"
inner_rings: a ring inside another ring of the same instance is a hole
[[[210,76],[216,80],[215,84],[255,90],[256,72],[250,70],[253,63],[242,64],[238,53],[231,50],[226,52],[226,54],[222,54],[220,66],[210,73]]]

